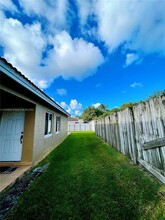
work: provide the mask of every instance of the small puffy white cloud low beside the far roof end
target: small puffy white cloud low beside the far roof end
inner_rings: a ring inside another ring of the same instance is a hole
[[[61,102],[60,105],[72,116],[79,116],[82,114],[82,104],[76,99],[72,99],[69,104]]]

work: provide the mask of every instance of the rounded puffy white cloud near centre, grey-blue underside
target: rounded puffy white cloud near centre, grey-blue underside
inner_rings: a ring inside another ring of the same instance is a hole
[[[82,38],[72,39],[66,31],[57,34],[52,39],[52,44],[53,49],[45,60],[45,65],[51,71],[56,69],[64,79],[83,80],[94,74],[104,62],[98,47]]]

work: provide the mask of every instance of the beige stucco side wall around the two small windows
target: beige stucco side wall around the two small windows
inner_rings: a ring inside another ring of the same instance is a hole
[[[50,112],[53,114],[52,135],[45,137],[45,114]],[[56,116],[61,116],[61,129],[56,133]],[[51,150],[53,150],[60,142],[62,142],[68,134],[67,116],[54,112],[40,104],[36,105],[35,111],[35,128],[33,142],[33,165],[43,159]]]

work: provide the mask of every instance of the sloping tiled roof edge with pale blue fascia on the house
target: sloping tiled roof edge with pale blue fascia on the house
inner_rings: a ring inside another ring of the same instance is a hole
[[[4,59],[3,57],[0,57],[0,70],[2,72],[4,72],[2,70],[2,67],[4,68],[3,63],[9,67],[11,70],[14,71],[15,74],[17,74],[20,78],[22,78],[27,85],[29,85],[31,87],[31,89],[34,89],[35,94],[36,92],[39,95],[39,97],[41,98],[41,96],[43,97],[43,99],[45,101],[47,101],[49,104],[51,104],[53,107],[55,107],[56,109],[58,109],[59,111],[63,112],[64,114],[66,114],[67,116],[70,116],[70,114],[65,111],[59,104],[57,104],[54,100],[52,100],[46,93],[44,93],[40,88],[38,88],[33,82],[31,82],[25,75],[23,75],[19,70],[17,70],[17,68],[15,68],[11,63],[9,63],[6,59]],[[27,87],[26,87],[27,88]]]

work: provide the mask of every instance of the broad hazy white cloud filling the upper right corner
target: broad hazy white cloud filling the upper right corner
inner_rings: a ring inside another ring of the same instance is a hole
[[[165,1],[98,0],[95,4],[100,39],[113,52],[125,49],[165,55]]]

